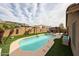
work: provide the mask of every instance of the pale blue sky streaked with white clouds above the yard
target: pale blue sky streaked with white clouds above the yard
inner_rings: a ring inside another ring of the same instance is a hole
[[[0,4],[0,20],[29,25],[65,25],[68,3],[8,3]]]

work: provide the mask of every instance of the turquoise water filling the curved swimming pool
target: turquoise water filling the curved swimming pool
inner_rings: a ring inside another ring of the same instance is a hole
[[[49,39],[54,39],[53,35],[39,35],[30,38],[25,38],[19,42],[20,49],[23,51],[35,51],[42,48]]]

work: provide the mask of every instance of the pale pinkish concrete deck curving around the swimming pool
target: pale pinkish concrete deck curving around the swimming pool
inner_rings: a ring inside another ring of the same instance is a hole
[[[44,34],[40,34],[40,35],[44,35]],[[33,36],[30,36],[30,37],[33,37]],[[27,37],[27,38],[30,38],[30,37]],[[23,51],[19,49],[19,44],[18,44],[19,41],[21,41],[22,39],[24,38],[16,40],[10,45],[10,52],[9,52],[10,56],[44,56],[51,48],[51,46],[54,44],[53,40],[49,40],[47,44],[44,45],[41,49],[38,49],[36,51]]]

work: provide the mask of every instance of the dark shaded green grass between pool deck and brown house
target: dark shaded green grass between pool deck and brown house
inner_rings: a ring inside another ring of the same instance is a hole
[[[55,39],[55,44],[47,52],[46,56],[72,56],[72,51],[69,46],[62,44],[62,39]]]

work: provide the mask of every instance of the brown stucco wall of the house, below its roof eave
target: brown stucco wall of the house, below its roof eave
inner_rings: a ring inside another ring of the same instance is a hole
[[[73,44],[73,37],[72,37],[72,26],[73,23],[76,23],[75,26],[75,46]],[[71,37],[71,48],[72,48],[72,52],[74,55],[79,55],[79,12],[73,12],[73,13],[68,13],[68,18],[67,18],[67,28],[68,28],[68,32],[69,32],[69,36]]]

